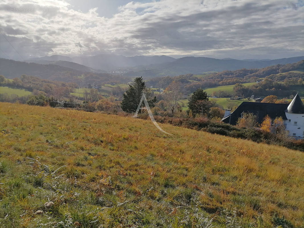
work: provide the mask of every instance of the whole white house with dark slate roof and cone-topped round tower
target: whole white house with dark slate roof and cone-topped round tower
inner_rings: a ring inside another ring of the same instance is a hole
[[[261,124],[265,116],[271,119],[282,117],[288,135],[297,139],[304,138],[304,105],[299,94],[295,95],[290,104],[274,104],[260,102],[242,102],[237,109],[230,113],[226,109],[222,121],[232,125],[237,124],[237,120],[243,113],[253,113],[257,116],[257,122]]]

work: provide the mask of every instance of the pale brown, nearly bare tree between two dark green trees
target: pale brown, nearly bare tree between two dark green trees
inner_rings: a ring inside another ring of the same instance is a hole
[[[174,112],[179,108],[178,100],[182,97],[180,90],[181,83],[173,81],[164,91],[164,96],[172,117],[174,116]]]

